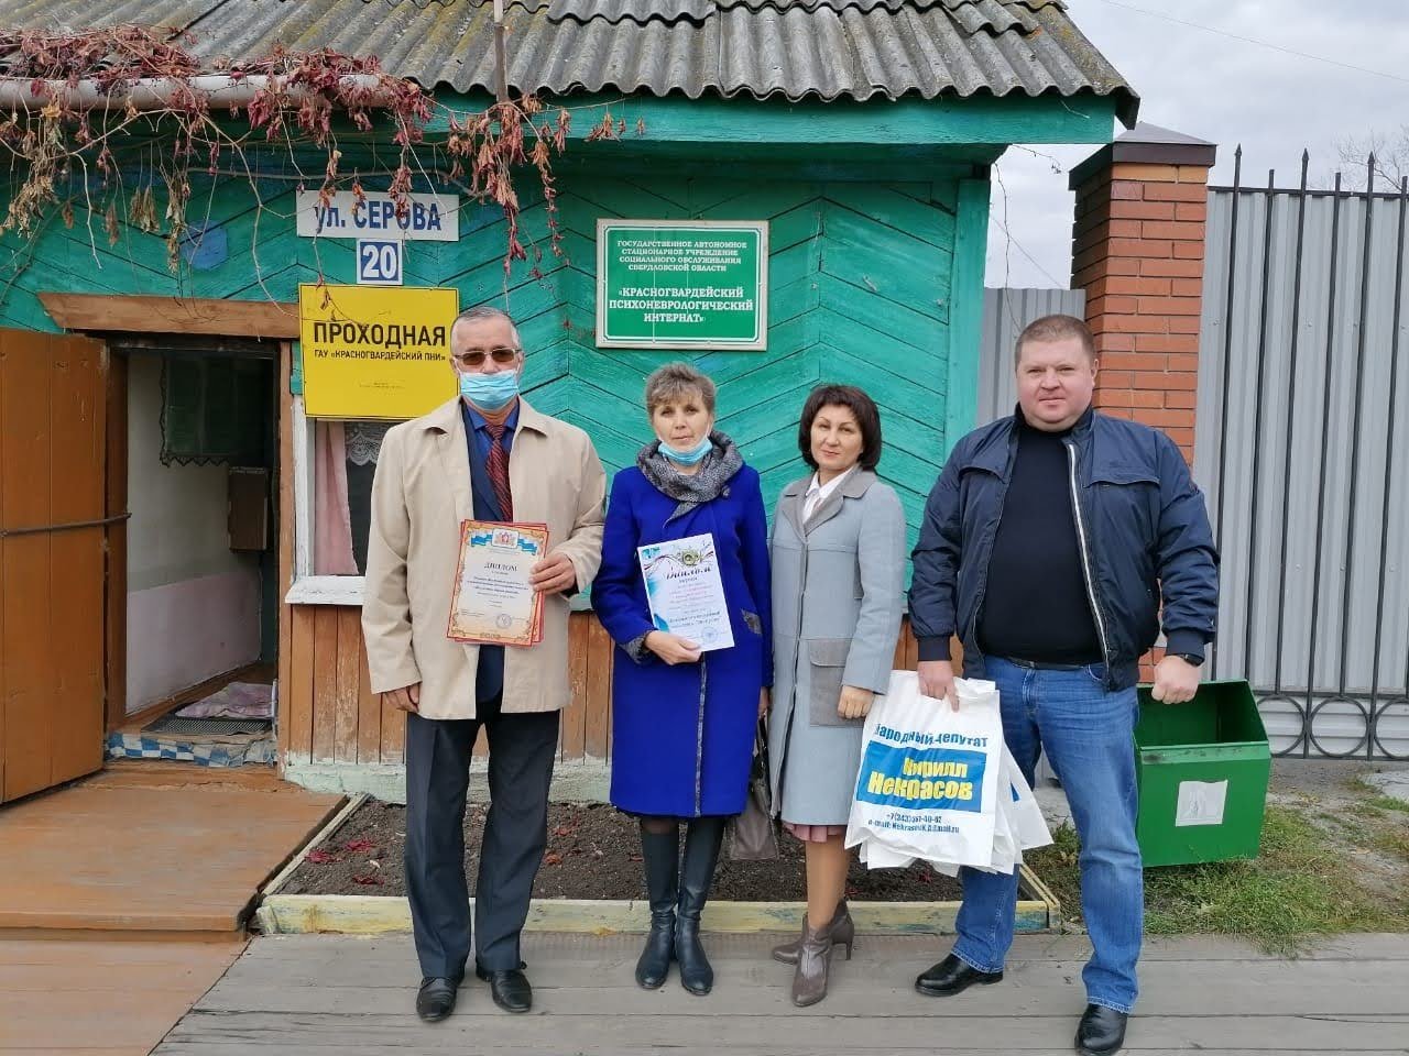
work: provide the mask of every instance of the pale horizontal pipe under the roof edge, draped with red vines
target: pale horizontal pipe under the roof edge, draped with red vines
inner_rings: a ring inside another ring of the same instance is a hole
[[[35,92],[35,82],[28,77],[0,77],[0,111],[31,110],[46,106],[51,99],[61,99],[75,110],[125,110],[128,106],[135,110],[165,110],[185,90],[206,96],[213,110],[230,110],[249,106],[259,92],[269,87],[269,80],[262,73],[247,77],[211,73],[185,80],[147,77],[124,92],[104,89],[94,80],[80,80],[76,84],[66,80],[41,80],[39,90]],[[386,106],[392,101],[390,96],[380,90],[378,79],[368,73],[349,73],[342,77],[342,87],[368,92],[366,106]],[[294,101],[309,96],[306,89],[297,86],[285,89],[285,93]]]

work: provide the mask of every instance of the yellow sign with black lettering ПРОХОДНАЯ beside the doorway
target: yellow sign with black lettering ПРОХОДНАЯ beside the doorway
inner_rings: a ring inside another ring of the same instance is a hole
[[[417,418],[455,396],[454,287],[299,286],[310,418]]]

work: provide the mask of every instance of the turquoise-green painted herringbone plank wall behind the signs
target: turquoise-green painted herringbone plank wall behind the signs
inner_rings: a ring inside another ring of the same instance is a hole
[[[541,276],[523,263],[506,276],[502,217],[466,204],[458,244],[407,245],[406,282],[455,286],[462,306],[492,301],[520,320],[530,400],[585,428],[614,470],[651,435],[641,406],[645,376],[681,356],[593,348],[596,220],[768,220],[768,351],[685,358],[719,383],[720,428],[762,473],[769,504],[806,472],[796,429],[807,391],[820,382],[869,391],[882,408],[881,474],[900,491],[913,538],[944,455],[972,424],[986,180],[962,179],[962,168],[903,183],[761,182],[721,179],[743,173],[703,166],[679,175],[657,175],[658,168],[565,172],[568,259],[545,256]],[[199,252],[176,275],[155,235],[124,227],[110,246],[97,218],[92,239],[82,213],[73,227],[51,224],[24,248],[28,265],[4,290],[0,325],[54,329],[35,298],[45,290],[292,301],[300,282],[320,275],[352,280],[351,241],[296,237],[290,183],[261,183],[258,199],[240,182],[197,187],[194,200],[209,203],[206,234],[200,246],[187,246]],[[541,196],[530,193],[526,203],[524,227],[541,238]],[[0,249],[18,246],[6,239]]]

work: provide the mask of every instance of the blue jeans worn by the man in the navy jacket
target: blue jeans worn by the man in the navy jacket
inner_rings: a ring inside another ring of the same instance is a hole
[[[1129,1012],[1144,931],[1144,877],[1136,843],[1134,689],[1107,693],[1103,665],[1071,672],[1036,670],[985,658],[998,683],[1003,739],[1027,783],[1047,752],[1071,803],[1081,836],[1081,908],[1093,948],[1081,973],[1086,1000]],[[979,972],[1002,972],[1013,945],[1017,873],[960,872],[954,956]]]

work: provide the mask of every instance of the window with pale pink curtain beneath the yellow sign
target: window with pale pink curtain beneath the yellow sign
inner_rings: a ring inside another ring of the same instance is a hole
[[[313,574],[366,572],[372,474],[393,422],[331,421],[313,425]]]

